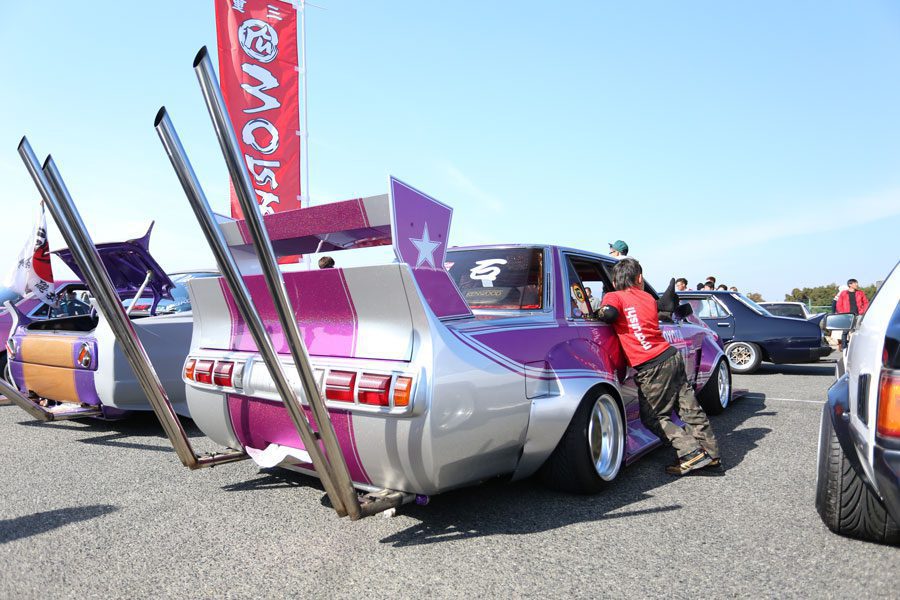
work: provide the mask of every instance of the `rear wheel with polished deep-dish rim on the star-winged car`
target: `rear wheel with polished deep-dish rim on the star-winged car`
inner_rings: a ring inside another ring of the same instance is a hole
[[[581,401],[539,476],[556,490],[595,494],[616,478],[624,462],[625,419],[615,397],[601,391]]]

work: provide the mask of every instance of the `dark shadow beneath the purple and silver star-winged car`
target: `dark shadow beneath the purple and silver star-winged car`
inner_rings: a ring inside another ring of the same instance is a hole
[[[712,418],[727,469],[739,465],[769,432],[767,427],[745,427],[753,417],[774,415],[765,406],[765,395],[736,399],[723,414]],[[680,504],[654,508],[630,506],[651,497],[655,488],[676,478],[665,473],[673,462],[668,448],[657,449],[624,469],[609,489],[596,496],[578,496],[549,490],[536,478],[507,482],[492,480],[434,497],[428,506],[409,504],[401,514],[419,522],[381,540],[395,547],[435,544],[491,535],[515,535],[547,531],[573,523],[620,519],[676,511]],[[230,492],[308,487],[322,490],[318,479],[284,469],[261,469],[256,478],[224,486]],[[330,506],[322,496],[323,506]]]

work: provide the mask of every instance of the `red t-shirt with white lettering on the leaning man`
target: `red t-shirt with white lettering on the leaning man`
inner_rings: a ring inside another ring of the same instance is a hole
[[[659,329],[656,298],[644,290],[632,287],[608,292],[601,304],[619,311],[613,327],[631,366],[656,358],[669,348]]]

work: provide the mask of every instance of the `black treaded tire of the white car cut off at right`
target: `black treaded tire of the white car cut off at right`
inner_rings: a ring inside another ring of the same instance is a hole
[[[844,455],[830,410],[830,405],[826,404],[819,429],[816,475],[819,516],[830,530],[840,535],[900,545],[900,526]]]

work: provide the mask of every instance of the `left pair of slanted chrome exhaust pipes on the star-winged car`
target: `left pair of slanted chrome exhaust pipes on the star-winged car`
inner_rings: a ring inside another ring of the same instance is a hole
[[[103,262],[100,260],[100,254],[97,252],[97,248],[94,246],[94,242],[91,240],[84,222],[81,220],[78,209],[75,208],[75,203],[65,183],[63,183],[56,164],[48,156],[42,168],[31,148],[31,144],[28,143],[28,139],[25,137],[19,143],[19,155],[25,162],[25,167],[28,169],[32,180],[34,180],[41,197],[50,208],[50,214],[53,215],[53,219],[66,240],[66,244],[72,251],[72,257],[81,269],[85,284],[87,284],[94,295],[94,299],[97,301],[98,310],[109,323],[116,340],[121,344],[122,351],[131,364],[141,389],[147,395],[153,412],[159,418],[163,430],[166,432],[181,462],[191,469],[199,469],[247,458],[246,454],[236,450],[203,456],[199,456],[194,452],[190,440],[181,426],[175,410],[172,408],[172,403],[169,402],[166,391],[159,381],[159,376],[157,376],[156,370],[150,363],[147,351],[141,344],[137,333],[135,333],[131,320],[125,314],[125,308],[119,300],[115,286],[110,281],[109,273],[107,273]],[[2,385],[0,385],[0,390],[7,391]],[[22,398],[25,399],[24,397]],[[15,396],[11,396],[11,399],[19,404]],[[25,400],[27,401],[27,399]],[[30,414],[35,414],[24,405],[20,404],[20,406]],[[42,417],[37,416],[37,418]]]

